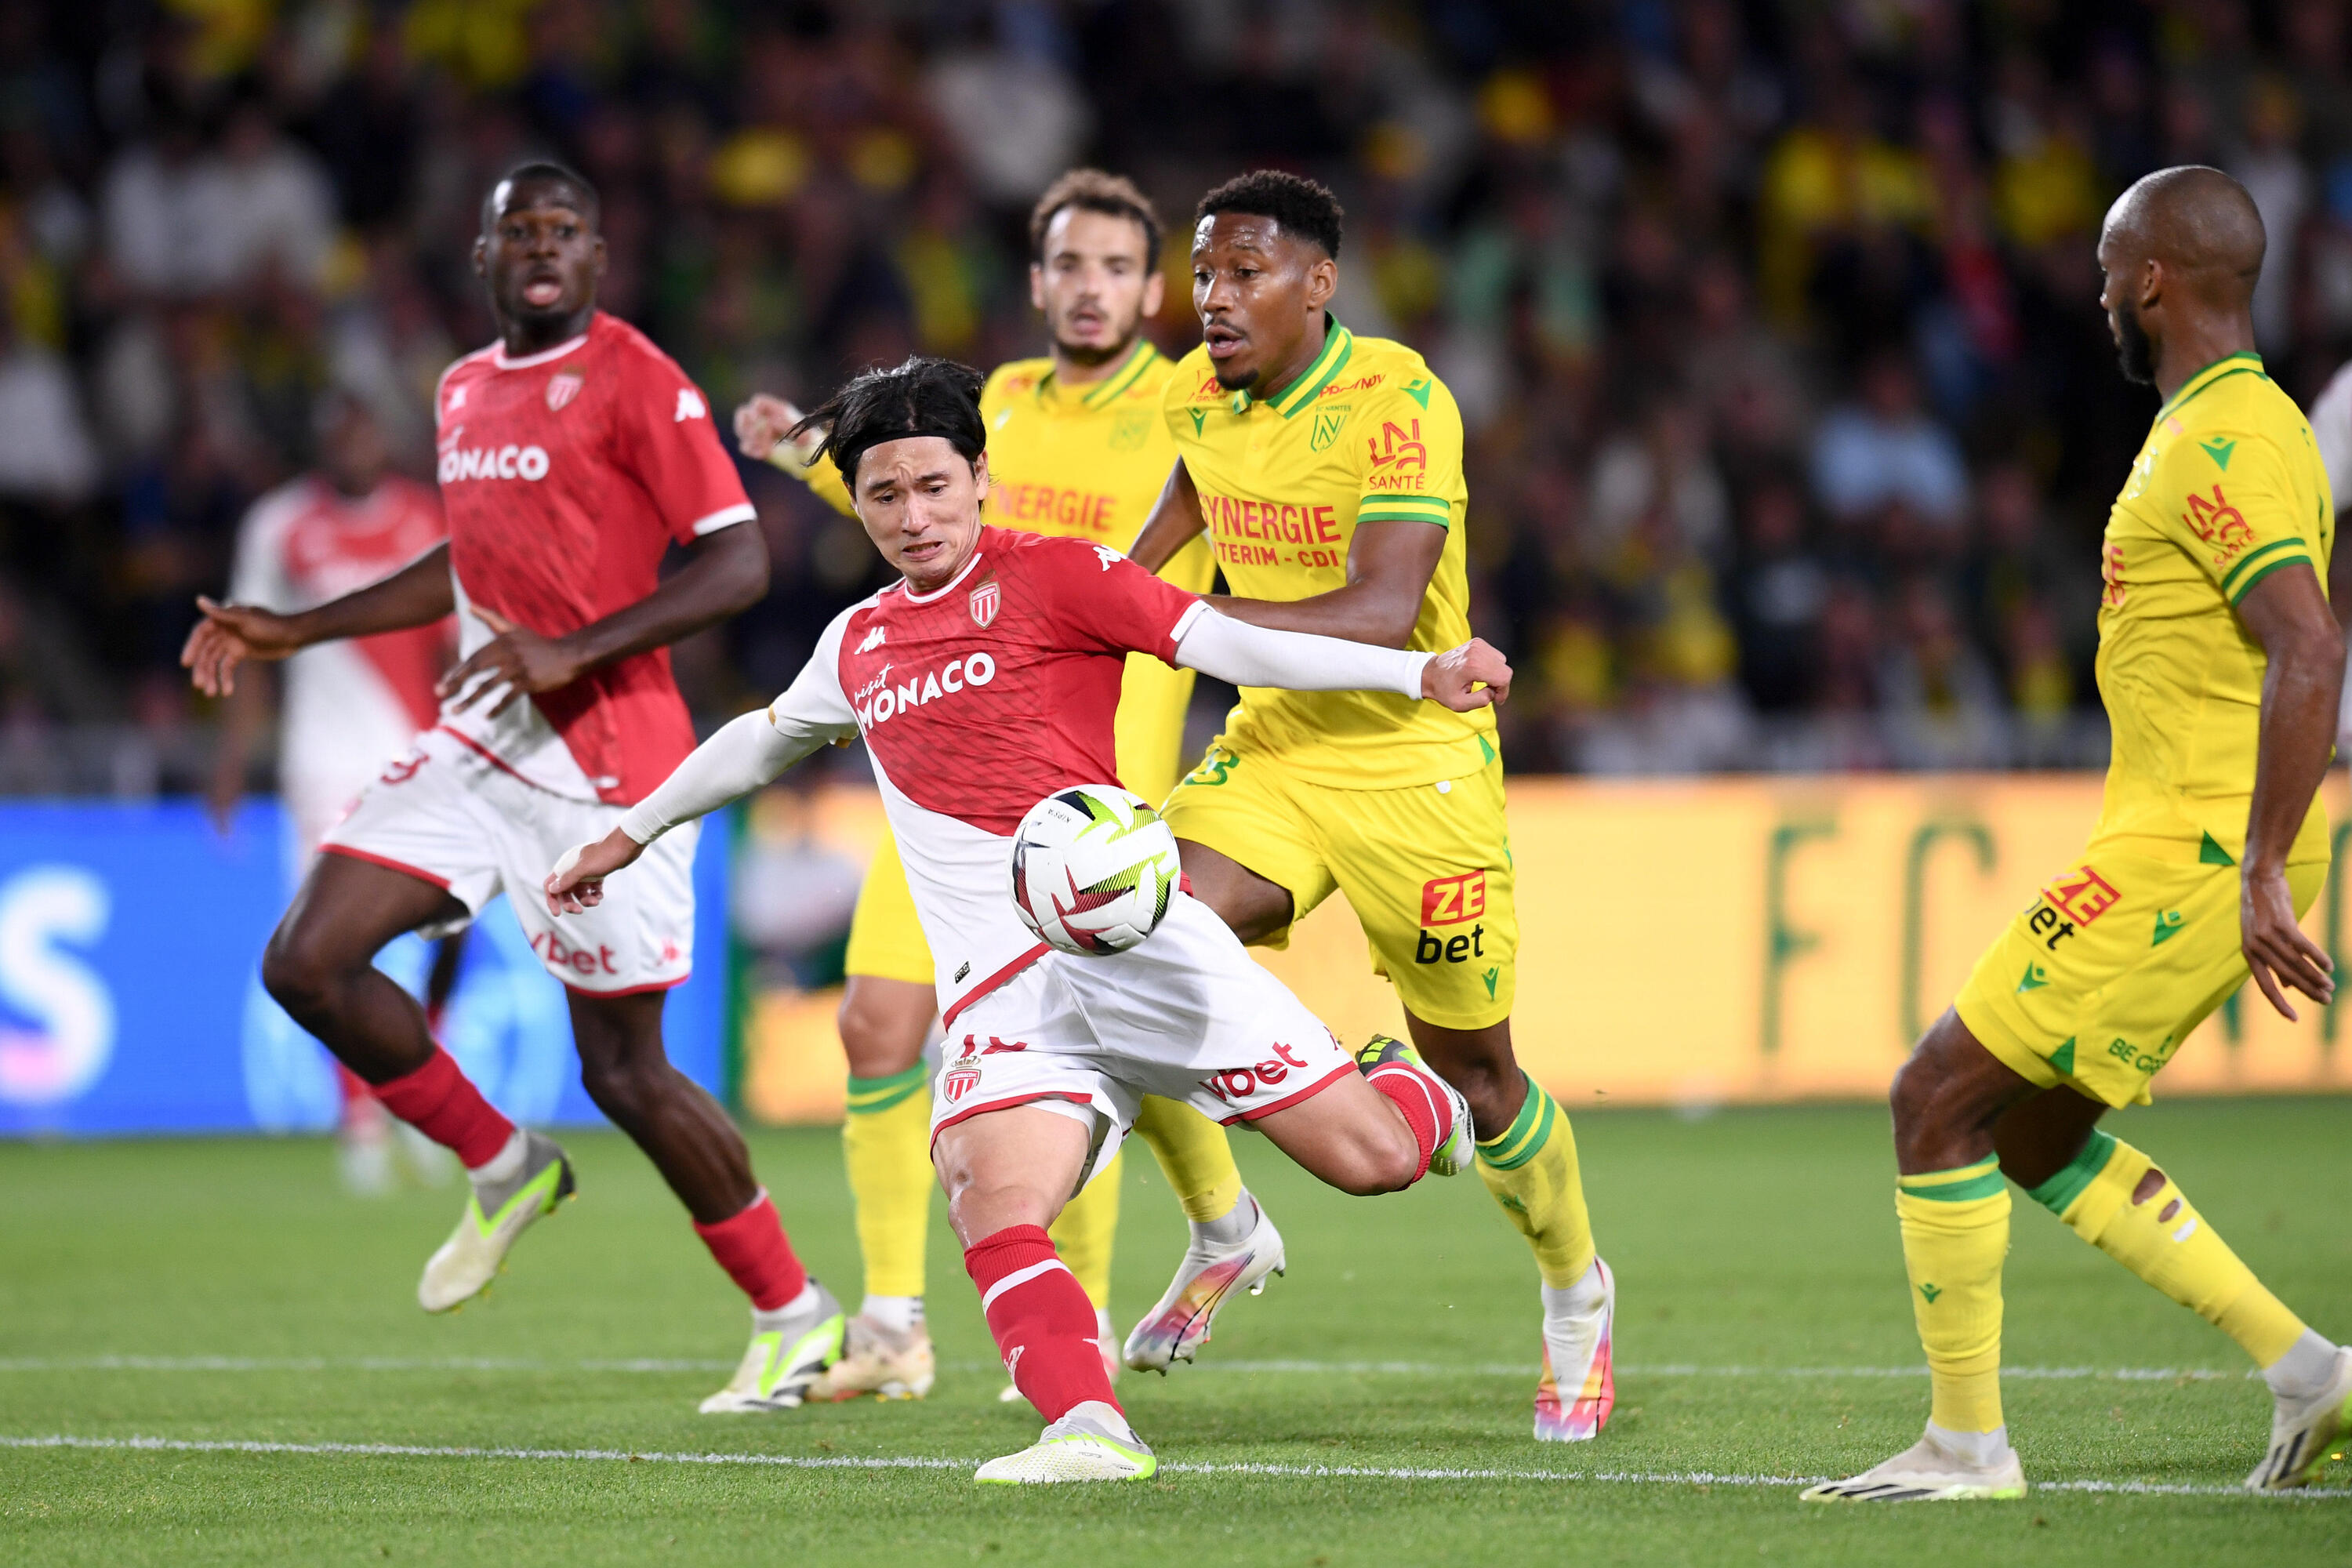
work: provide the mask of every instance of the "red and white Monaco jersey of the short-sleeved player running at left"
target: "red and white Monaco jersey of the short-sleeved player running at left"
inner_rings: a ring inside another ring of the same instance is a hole
[[[602,310],[546,353],[510,360],[494,343],[466,355],[433,407],[461,654],[494,637],[475,604],[562,637],[652,595],[670,543],[753,515],[708,400]],[[668,649],[590,670],[496,719],[487,708],[447,712],[442,726],[572,799],[633,804],[694,750]]]

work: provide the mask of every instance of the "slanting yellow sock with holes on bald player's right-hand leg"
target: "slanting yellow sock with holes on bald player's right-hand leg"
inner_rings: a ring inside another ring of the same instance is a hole
[[[2150,1173],[2152,1190],[2133,1199]],[[2129,1143],[2093,1128],[2074,1164],[2030,1194],[2077,1237],[2237,1340],[2256,1366],[2270,1366],[2303,1338],[2303,1319],[2239,1262],[2173,1178]]]

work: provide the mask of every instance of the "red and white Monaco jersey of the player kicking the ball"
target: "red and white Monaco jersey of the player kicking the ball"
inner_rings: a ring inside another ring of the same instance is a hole
[[[1117,550],[981,529],[936,592],[833,618],[771,715],[866,736],[948,1023],[1047,952],[1011,898],[1011,835],[1054,790],[1115,783],[1127,654],[1174,663],[1200,597]]]

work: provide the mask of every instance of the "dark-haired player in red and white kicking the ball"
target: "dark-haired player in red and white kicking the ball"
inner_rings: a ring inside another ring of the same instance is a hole
[[[696,748],[609,837],[564,853],[548,907],[593,914],[661,835],[863,736],[943,1020],[962,1037],[929,1098],[948,1218],[1004,1371],[1047,1420],[974,1479],[1138,1481],[1157,1460],[1127,1425],[1098,1319],[1044,1227],[1117,1152],[1143,1098],[1254,1126],[1355,1194],[1468,1166],[1470,1107],[1411,1046],[1374,1039],[1350,1058],[1190,893],[1169,891],[1136,947],[1054,952],[1007,896],[1014,832],[1040,799],[1068,802],[1115,766],[1129,654],[1449,710],[1503,701],[1510,665],[1482,642],[1404,654],[1244,625],[1108,545],[985,527],[978,390],[978,371],[917,357],[866,371],[814,416],[901,581],[835,616],[764,712]]]

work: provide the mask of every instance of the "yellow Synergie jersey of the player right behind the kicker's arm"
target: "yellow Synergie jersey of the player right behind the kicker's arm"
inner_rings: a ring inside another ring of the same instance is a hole
[[[1331,320],[1322,357],[1270,400],[1223,390],[1195,348],[1169,378],[1167,425],[1235,595],[1331,592],[1348,583],[1359,522],[1432,522],[1446,543],[1406,646],[1470,639],[1463,416],[1411,348]],[[1251,686],[1225,736],[1308,783],[1355,790],[1461,778],[1496,757],[1491,708],[1451,712],[1392,691]]]

